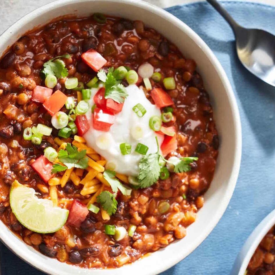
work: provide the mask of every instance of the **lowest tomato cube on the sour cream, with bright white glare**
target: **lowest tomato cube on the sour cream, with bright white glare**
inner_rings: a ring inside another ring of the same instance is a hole
[[[115,116],[105,110],[94,109],[94,129],[108,132],[115,122]]]

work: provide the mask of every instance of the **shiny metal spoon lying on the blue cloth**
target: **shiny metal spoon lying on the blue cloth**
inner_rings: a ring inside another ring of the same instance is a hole
[[[229,23],[234,31],[241,63],[252,74],[275,86],[275,36],[259,29],[243,28],[217,0],[206,0]]]

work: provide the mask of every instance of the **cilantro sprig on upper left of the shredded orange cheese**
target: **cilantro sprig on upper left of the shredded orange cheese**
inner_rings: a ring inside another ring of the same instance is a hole
[[[77,151],[76,146],[72,146],[67,143],[66,149],[61,149],[58,152],[58,160],[65,166],[60,164],[54,164],[51,173],[65,171],[66,169],[81,168],[85,169],[88,167],[88,158],[86,157],[86,150]]]

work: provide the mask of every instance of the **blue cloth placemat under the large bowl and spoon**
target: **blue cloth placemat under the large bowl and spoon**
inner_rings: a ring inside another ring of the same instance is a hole
[[[241,25],[275,34],[275,7],[244,2],[223,5]],[[247,237],[275,207],[275,88],[244,69],[235,52],[231,28],[208,3],[175,6],[167,11],[198,33],[225,69],[240,110],[243,149],[237,186],[222,219],[191,255],[162,275],[229,274]],[[3,244],[1,266],[2,275],[44,274]]]

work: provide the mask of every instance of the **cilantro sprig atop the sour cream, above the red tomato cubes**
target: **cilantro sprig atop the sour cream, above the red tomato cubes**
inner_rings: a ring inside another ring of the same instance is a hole
[[[110,98],[117,103],[123,103],[128,97],[125,87],[116,80],[113,67],[109,68],[107,74],[100,69],[97,77],[105,83],[105,99]]]

